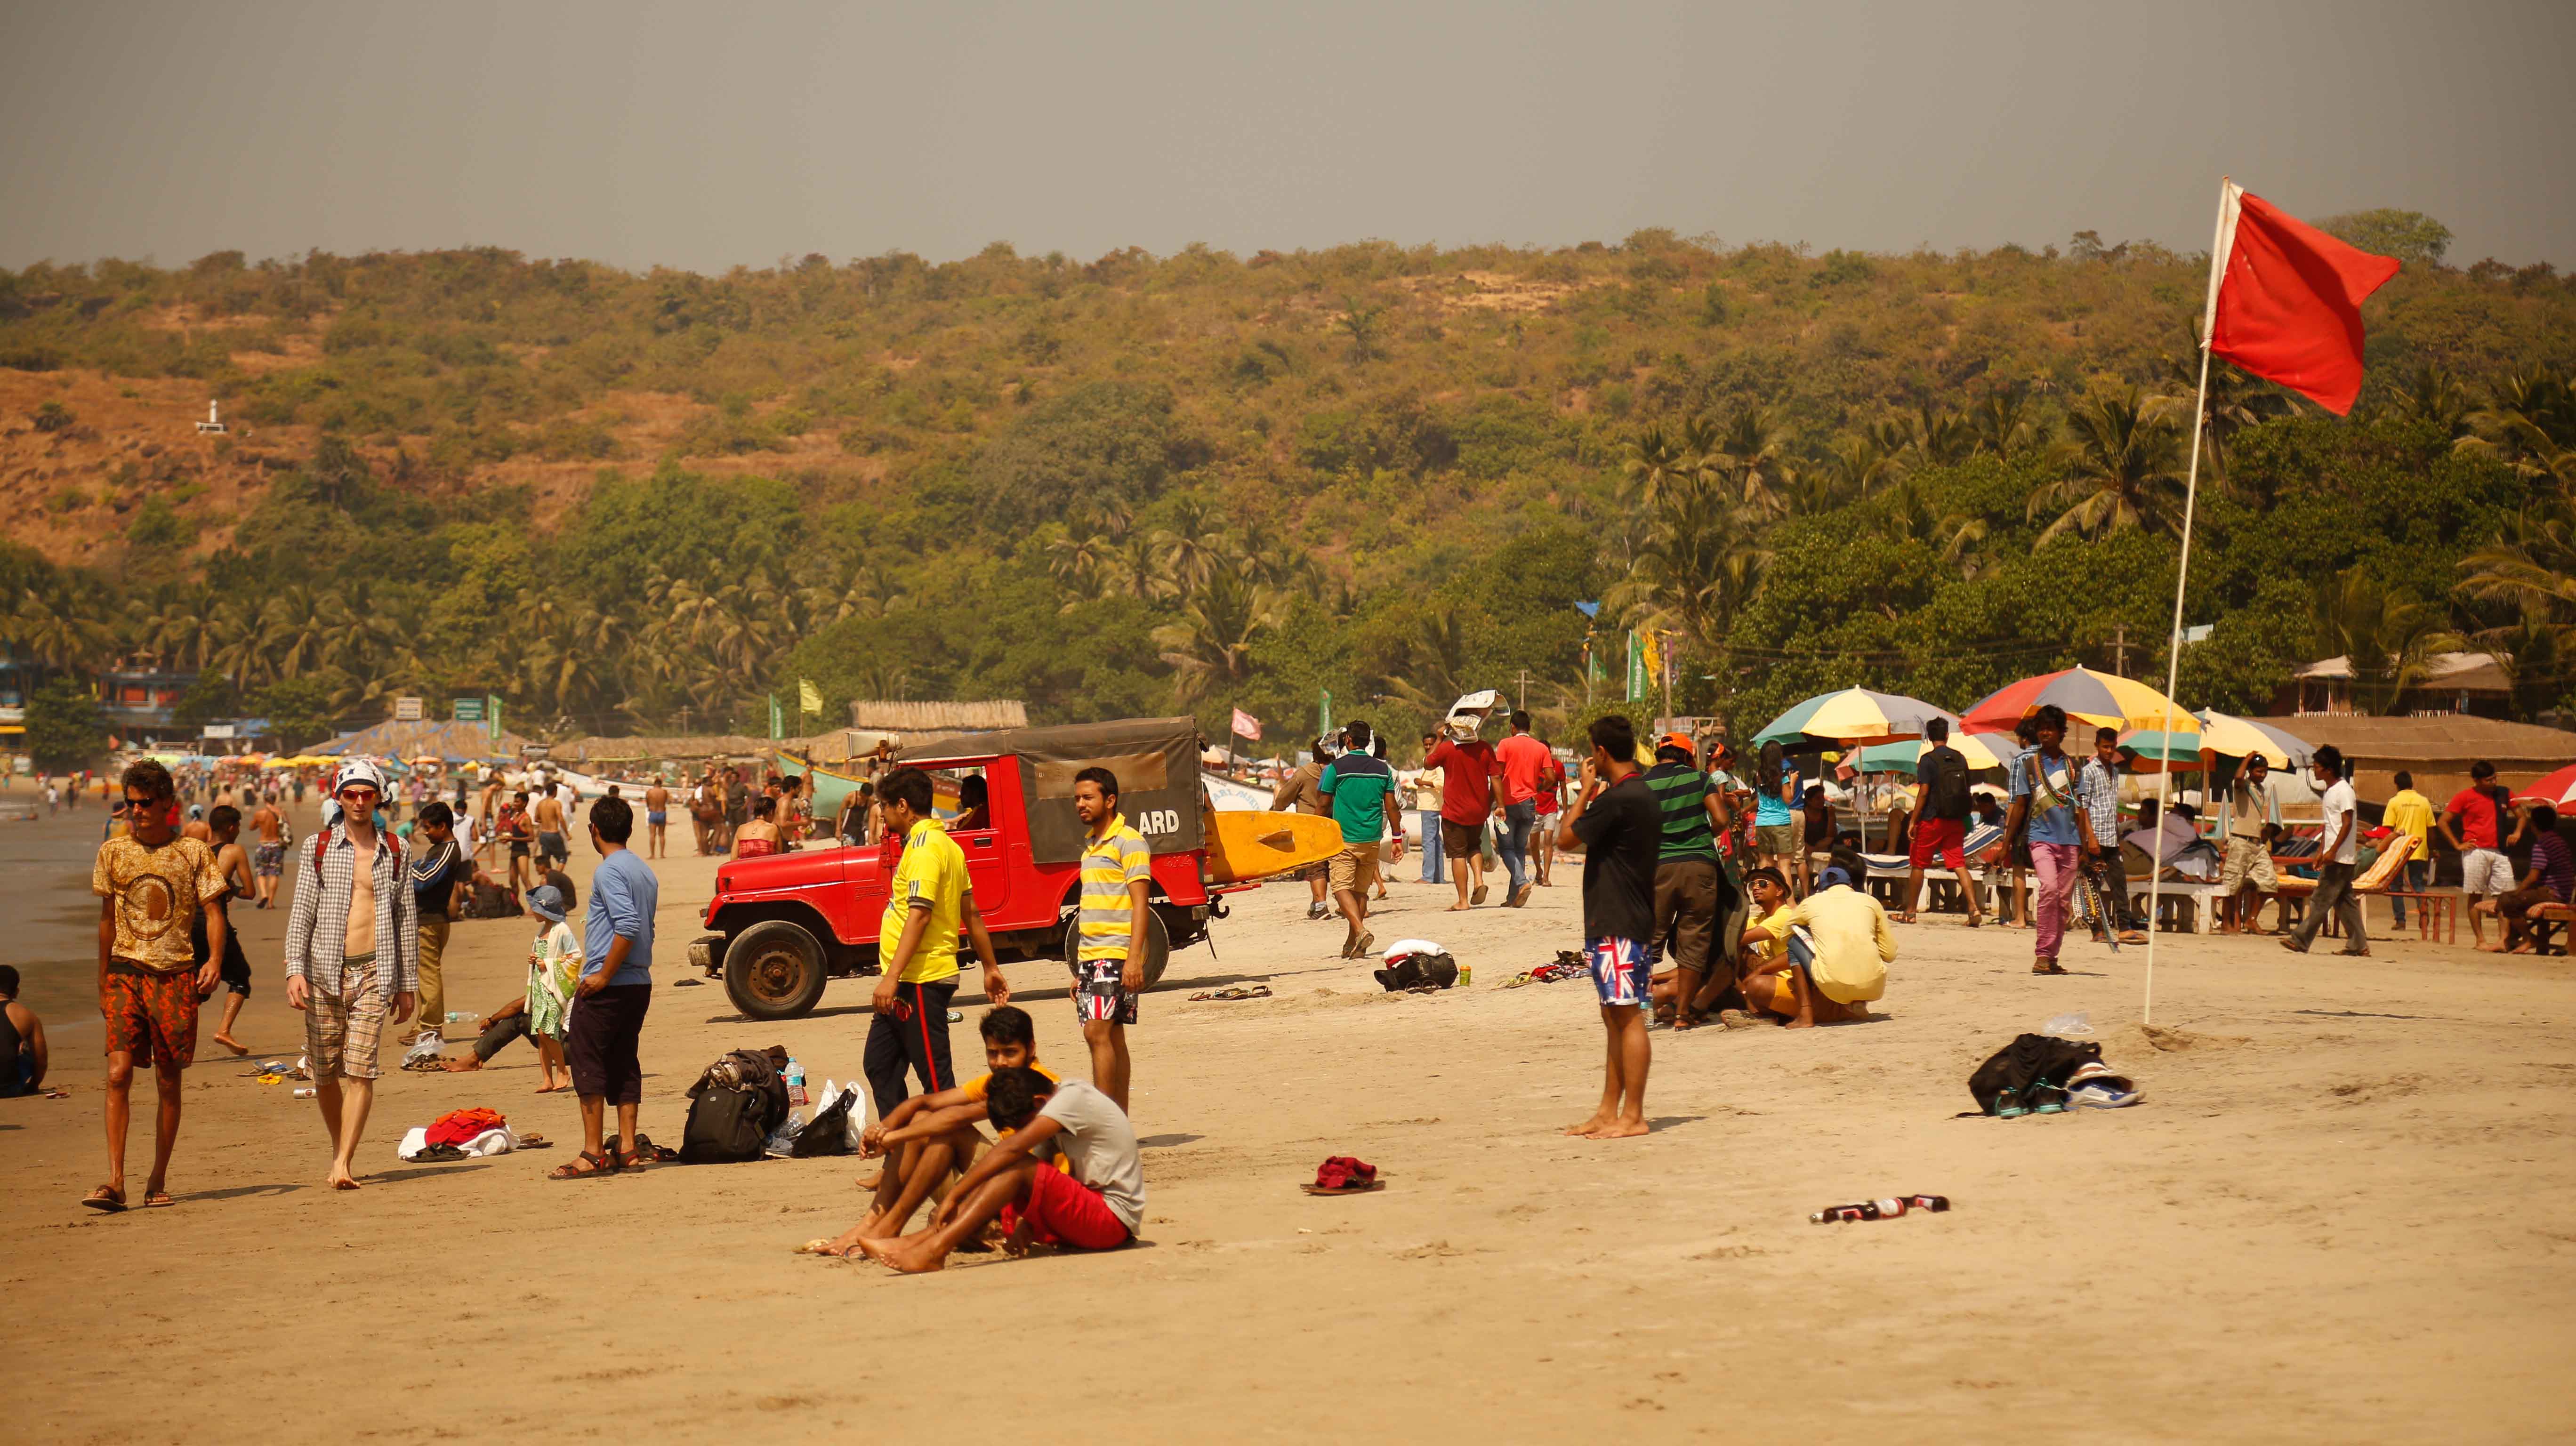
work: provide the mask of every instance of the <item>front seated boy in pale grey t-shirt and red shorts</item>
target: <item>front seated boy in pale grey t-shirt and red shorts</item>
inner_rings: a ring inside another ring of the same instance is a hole
[[[1136,1129],[1115,1101],[1082,1080],[1051,1083],[1038,1070],[994,1070],[984,1095],[992,1121],[1010,1134],[966,1170],[930,1227],[899,1240],[860,1237],[871,1260],[904,1273],[938,1271],[948,1253],[1002,1222],[1002,1248],[1030,1245],[1115,1250],[1144,1224],[1144,1160]],[[1056,1144],[1072,1175],[1038,1155]]]

